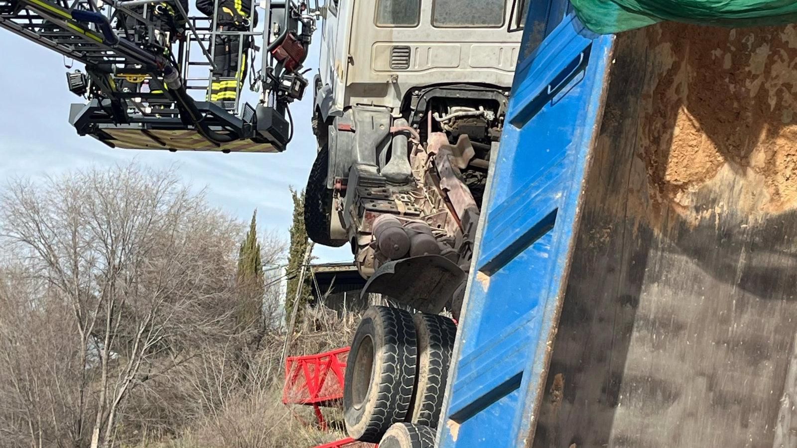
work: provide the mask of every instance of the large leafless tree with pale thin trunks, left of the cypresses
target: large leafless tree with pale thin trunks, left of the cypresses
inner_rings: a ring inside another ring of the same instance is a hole
[[[190,362],[194,341],[223,344],[240,230],[173,171],[10,183],[0,235],[24,268],[0,289],[0,391],[17,403],[0,416],[14,446],[113,446],[132,391]]]

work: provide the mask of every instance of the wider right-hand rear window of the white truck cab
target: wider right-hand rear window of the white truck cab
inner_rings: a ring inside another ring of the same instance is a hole
[[[506,0],[434,0],[432,25],[441,28],[497,28],[504,25]]]

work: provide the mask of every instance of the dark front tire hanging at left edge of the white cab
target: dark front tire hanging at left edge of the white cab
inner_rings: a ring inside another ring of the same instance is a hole
[[[332,213],[332,190],[327,188],[329,152],[322,147],[312,163],[307,187],[304,188],[304,228],[307,236],[322,246],[340,247],[347,241],[336,241],[329,236]]]

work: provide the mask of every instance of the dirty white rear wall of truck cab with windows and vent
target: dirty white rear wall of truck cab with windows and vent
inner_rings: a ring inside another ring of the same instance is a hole
[[[512,85],[524,2],[328,0],[316,112],[356,104],[398,116],[411,89],[436,84]]]

